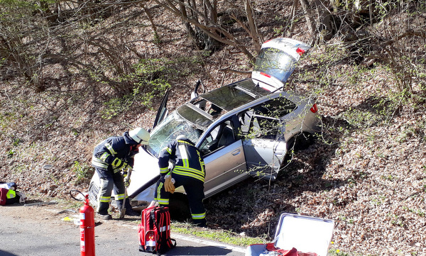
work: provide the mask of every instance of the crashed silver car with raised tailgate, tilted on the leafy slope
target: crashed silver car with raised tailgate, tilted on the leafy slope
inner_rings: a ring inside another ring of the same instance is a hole
[[[300,55],[309,49],[289,38],[263,43],[251,78],[200,95],[198,83],[192,99],[170,114],[166,93],[149,145],[135,156],[127,190],[132,202],[149,204],[154,199],[158,153],[178,135],[186,135],[202,152],[206,198],[250,175],[275,179],[295,138],[317,131],[315,101],[282,90]],[[92,201],[97,189],[95,173],[89,187]],[[185,193],[182,187],[176,192]]]

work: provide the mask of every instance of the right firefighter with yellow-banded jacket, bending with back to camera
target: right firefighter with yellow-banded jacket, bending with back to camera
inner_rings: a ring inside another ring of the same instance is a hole
[[[175,162],[172,170],[168,169],[169,160]],[[160,151],[158,166],[160,179],[155,188],[155,201],[168,206],[170,193],[175,191],[175,187],[183,186],[190,204],[192,221],[197,226],[206,227],[206,212],[202,203],[205,171],[200,150],[184,135],[179,135]]]

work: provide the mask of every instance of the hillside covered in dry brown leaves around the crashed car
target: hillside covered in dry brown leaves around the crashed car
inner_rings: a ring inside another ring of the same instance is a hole
[[[287,17],[291,3],[258,2],[263,38],[285,36],[277,17]],[[155,83],[148,83],[137,87],[140,96],[125,87],[117,70],[129,68],[126,58],[138,57],[132,79],[170,84],[169,110],[190,99],[197,79],[214,89],[244,77],[222,69],[251,70],[230,46],[197,50],[174,16],[150,8],[160,42],[146,13],[131,5],[50,38],[37,87],[2,64],[1,181],[16,182],[29,199],[69,198],[71,189],[87,189],[94,145],[151,128],[165,90],[151,95]],[[210,228],[271,239],[280,213],[299,213],[335,221],[336,255],[426,255],[425,7],[410,14],[359,28],[363,40],[337,34],[302,58],[287,89],[317,99],[322,133],[275,182],[249,179],[206,199]],[[293,38],[310,42],[301,14],[294,29]],[[419,30],[386,48],[393,35]],[[386,62],[398,58],[405,62]]]

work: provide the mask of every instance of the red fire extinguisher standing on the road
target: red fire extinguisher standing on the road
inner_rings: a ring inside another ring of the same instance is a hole
[[[84,206],[80,208],[80,252],[81,256],[94,256],[94,210],[89,205],[88,194],[84,199]]]

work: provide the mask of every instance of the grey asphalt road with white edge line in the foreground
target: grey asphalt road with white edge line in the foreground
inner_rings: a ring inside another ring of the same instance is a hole
[[[81,255],[80,226],[67,218],[75,211],[52,206],[0,206],[0,256]],[[99,221],[95,218],[95,253],[153,255],[138,250],[137,217]],[[172,233],[177,247],[165,255],[242,256],[245,248]]]

